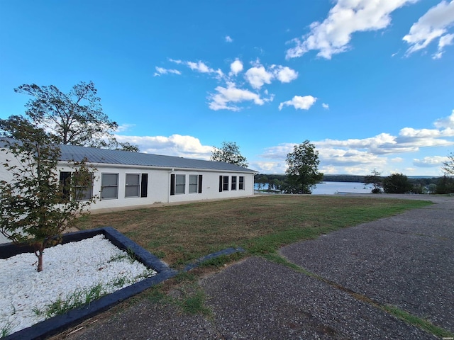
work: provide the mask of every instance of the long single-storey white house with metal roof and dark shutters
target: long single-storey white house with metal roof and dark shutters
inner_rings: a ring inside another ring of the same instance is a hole
[[[189,202],[253,196],[255,171],[223,162],[143,154],[74,145],[60,145],[60,181],[71,175],[68,162],[86,157],[94,168],[87,196],[100,200],[91,210],[154,203]],[[0,152],[0,164],[11,159]],[[11,174],[0,166],[0,180]]]

